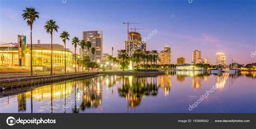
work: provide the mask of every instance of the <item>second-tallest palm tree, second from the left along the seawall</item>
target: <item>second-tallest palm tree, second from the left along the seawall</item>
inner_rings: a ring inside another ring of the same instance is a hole
[[[51,75],[52,75],[52,33],[53,31],[58,32],[59,26],[56,25],[56,22],[53,21],[53,19],[50,19],[46,22],[46,25],[44,26],[44,29],[46,29],[47,33],[50,33],[51,35]]]

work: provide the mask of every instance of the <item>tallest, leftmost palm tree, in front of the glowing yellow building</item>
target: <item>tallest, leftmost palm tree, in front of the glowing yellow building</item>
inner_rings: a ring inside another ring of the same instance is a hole
[[[26,8],[23,10],[23,20],[26,20],[26,23],[30,26],[30,74],[33,76],[33,68],[32,68],[32,26],[33,23],[36,21],[36,18],[39,18],[39,13],[35,10],[35,8]]]

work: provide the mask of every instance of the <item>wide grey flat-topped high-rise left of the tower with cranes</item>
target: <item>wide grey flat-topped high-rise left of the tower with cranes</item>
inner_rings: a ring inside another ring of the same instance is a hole
[[[89,51],[87,48],[84,49],[84,52],[81,52],[80,50],[80,56],[82,57],[82,53],[84,53],[84,56],[89,56],[91,61],[95,60],[102,60],[102,53],[103,53],[103,31],[84,31],[83,32],[83,39],[85,41],[89,40],[91,42],[91,48],[95,48],[95,54],[92,55],[91,48]]]

